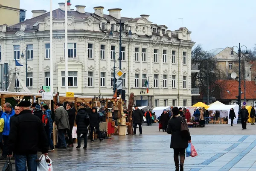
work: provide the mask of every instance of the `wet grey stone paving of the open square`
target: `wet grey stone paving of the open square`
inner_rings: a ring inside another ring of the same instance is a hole
[[[230,125],[190,128],[191,134],[201,132],[201,135],[192,135],[198,156],[186,157],[184,170],[256,171],[256,128],[253,128],[247,125],[247,130],[243,130],[251,135],[226,135],[225,129],[229,130]],[[146,135],[155,129],[154,135]],[[241,125],[232,129],[242,131]],[[206,130],[225,135],[207,135]],[[165,132],[158,132],[154,124],[143,126],[143,135],[113,136],[102,142],[88,142],[87,150],[76,149],[76,145],[67,150],[56,149],[49,152],[49,157],[54,171],[174,171],[170,138]],[[0,161],[0,168],[3,163]]]

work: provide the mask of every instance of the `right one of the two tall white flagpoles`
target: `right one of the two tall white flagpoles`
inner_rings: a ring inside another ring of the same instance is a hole
[[[68,80],[67,80],[67,0],[65,0],[65,90],[68,92]]]

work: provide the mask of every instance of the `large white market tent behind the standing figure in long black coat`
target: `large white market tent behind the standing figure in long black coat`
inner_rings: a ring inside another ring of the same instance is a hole
[[[233,108],[235,113],[236,113],[236,118],[233,120],[233,123],[237,123],[238,119],[238,110],[239,106],[238,105],[225,105],[225,104],[212,104],[207,110],[219,110],[220,111],[220,116],[223,117],[229,117],[230,109]],[[228,124],[231,123],[231,119],[228,119]]]

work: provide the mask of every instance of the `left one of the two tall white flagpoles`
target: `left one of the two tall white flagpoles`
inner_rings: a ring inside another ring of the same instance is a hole
[[[53,93],[52,0],[50,0],[50,92]]]

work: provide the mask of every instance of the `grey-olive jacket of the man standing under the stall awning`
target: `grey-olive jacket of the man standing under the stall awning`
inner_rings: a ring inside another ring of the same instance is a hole
[[[60,106],[55,110],[54,122],[59,130],[70,129],[70,125],[68,122],[68,114],[63,106]]]

